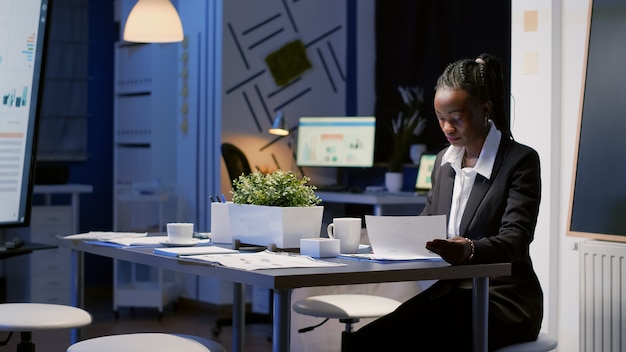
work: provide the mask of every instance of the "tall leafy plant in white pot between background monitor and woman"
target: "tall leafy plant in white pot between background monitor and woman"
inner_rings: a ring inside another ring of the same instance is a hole
[[[404,105],[389,127],[393,135],[393,149],[385,175],[385,186],[392,192],[402,188],[402,166],[411,145],[426,128],[426,119],[421,115],[424,107],[424,90],[419,87],[400,86],[398,91]]]

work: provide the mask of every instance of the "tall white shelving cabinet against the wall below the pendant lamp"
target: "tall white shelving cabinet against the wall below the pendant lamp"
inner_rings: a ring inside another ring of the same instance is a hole
[[[177,45],[115,48],[115,231],[164,232],[177,221]],[[113,310],[163,307],[179,292],[178,273],[114,260]]]

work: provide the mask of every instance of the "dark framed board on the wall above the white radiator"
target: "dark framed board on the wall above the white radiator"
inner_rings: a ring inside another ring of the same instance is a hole
[[[626,4],[590,1],[567,233],[626,242]]]

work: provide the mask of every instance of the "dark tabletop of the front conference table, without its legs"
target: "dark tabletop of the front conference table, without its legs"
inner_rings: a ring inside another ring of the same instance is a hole
[[[508,263],[451,266],[443,261],[376,263],[343,258],[325,258],[324,260],[345,263],[347,264],[345,266],[248,271],[214,265],[206,261],[158,255],[153,253],[153,248],[147,247],[113,248],[72,240],[60,240],[59,245],[79,252],[274,290],[398,281],[462,279],[477,276],[493,277],[506,276],[511,273]]]

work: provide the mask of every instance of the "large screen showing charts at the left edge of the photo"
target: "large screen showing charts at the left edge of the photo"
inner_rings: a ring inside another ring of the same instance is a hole
[[[48,0],[0,0],[0,226],[30,222]]]

